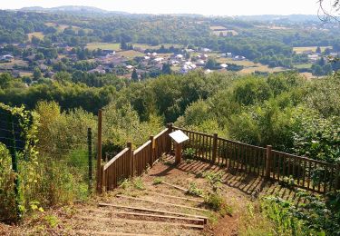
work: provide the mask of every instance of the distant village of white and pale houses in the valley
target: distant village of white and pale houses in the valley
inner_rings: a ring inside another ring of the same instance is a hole
[[[46,58],[41,53],[38,53],[40,48],[39,46],[34,46],[34,44],[11,44],[19,51],[31,52],[28,54],[6,52],[6,46],[8,44],[0,45],[2,52],[0,54],[0,73],[9,72],[15,77],[32,77],[34,71],[38,68],[44,74],[44,78],[53,79],[53,75],[62,70],[60,67],[63,64],[76,64],[77,62],[85,61],[91,63],[92,66],[90,66],[91,68],[82,68],[83,72],[99,75],[115,74],[126,79],[131,79],[131,74],[135,73],[141,80],[148,75],[152,77],[152,74],[156,76],[162,74],[164,65],[169,66],[171,72],[175,74],[188,74],[190,71],[197,69],[209,74],[213,71],[226,72],[229,70],[228,64],[216,63],[217,58],[228,58],[229,61],[233,62],[248,61],[248,58],[243,55],[212,52],[209,48],[172,47],[167,53],[156,53],[160,50],[133,47],[129,48],[129,50],[119,51],[108,49],[91,51],[83,47],[77,50],[86,51],[87,57],[81,58],[74,47],[57,44],[53,45],[57,54],[52,58]],[[130,52],[132,56],[125,56],[124,52]],[[136,56],[133,56],[133,54],[136,54]],[[306,50],[299,52],[299,54],[306,55],[308,63],[311,64],[316,64],[320,58],[325,57],[325,54],[314,52],[313,50]],[[327,55],[337,56],[337,53],[328,52]],[[76,69],[79,70],[78,68]]]

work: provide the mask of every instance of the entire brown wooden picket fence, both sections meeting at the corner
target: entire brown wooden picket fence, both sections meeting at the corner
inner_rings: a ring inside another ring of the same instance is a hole
[[[314,192],[340,189],[340,165],[220,138],[217,133],[193,132],[171,124],[135,151],[131,143],[102,166],[102,189],[112,190],[120,180],[141,175],[164,152],[174,149],[169,133],[180,130],[189,141],[183,149],[193,149],[194,158],[219,164],[237,172],[248,172],[276,182],[286,182]]]

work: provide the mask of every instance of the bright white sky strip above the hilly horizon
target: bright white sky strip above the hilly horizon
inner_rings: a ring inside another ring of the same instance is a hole
[[[316,15],[317,0],[0,0],[1,9],[89,5],[140,14]]]

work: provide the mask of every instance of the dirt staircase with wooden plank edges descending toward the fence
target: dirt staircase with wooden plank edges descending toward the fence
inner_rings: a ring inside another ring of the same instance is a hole
[[[79,211],[74,235],[201,235],[211,211],[199,197],[188,196],[184,187],[171,183],[153,184],[144,176],[143,191],[108,193],[97,205]],[[175,187],[171,187],[175,186]]]

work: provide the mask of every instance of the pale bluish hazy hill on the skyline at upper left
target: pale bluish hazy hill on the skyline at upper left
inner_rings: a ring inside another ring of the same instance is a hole
[[[41,6],[30,6],[18,9],[23,12],[52,12],[52,13],[78,13],[78,14],[121,14],[128,15],[129,13],[120,11],[106,11],[98,7],[83,6],[83,5],[62,5],[51,8],[44,8]]]

